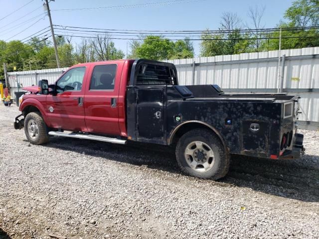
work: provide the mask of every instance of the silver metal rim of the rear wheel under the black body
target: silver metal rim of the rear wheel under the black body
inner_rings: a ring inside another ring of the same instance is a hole
[[[201,141],[189,143],[185,148],[184,156],[189,167],[201,173],[209,171],[215,163],[213,150]]]

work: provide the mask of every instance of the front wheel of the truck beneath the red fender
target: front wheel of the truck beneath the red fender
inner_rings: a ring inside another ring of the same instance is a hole
[[[29,131],[30,129],[28,128],[28,123],[33,123],[35,122],[36,125],[36,134],[34,133],[34,136],[31,136]],[[32,144],[44,144],[49,141],[49,135],[48,135],[48,128],[41,117],[41,114],[39,112],[31,112],[26,115],[24,119],[24,133],[28,141]]]

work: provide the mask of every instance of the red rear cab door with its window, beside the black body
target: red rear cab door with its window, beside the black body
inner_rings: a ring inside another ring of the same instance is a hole
[[[84,97],[89,132],[121,135],[118,97],[123,64],[101,63],[91,69]]]

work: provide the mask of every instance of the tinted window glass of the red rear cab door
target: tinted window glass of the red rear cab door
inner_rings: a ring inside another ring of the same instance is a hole
[[[95,66],[92,73],[90,90],[114,90],[116,64]]]

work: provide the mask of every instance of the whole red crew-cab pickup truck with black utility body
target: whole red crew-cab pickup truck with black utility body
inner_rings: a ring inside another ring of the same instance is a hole
[[[231,154],[299,158],[298,96],[225,94],[217,85],[179,86],[173,64],[117,60],[70,67],[54,85],[22,98],[14,127],[33,144],[49,136],[174,145],[181,170],[227,174]],[[22,118],[22,119],[20,119]],[[71,132],[65,132],[71,131]]]

